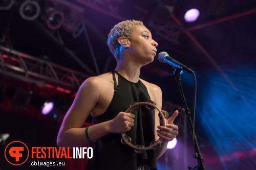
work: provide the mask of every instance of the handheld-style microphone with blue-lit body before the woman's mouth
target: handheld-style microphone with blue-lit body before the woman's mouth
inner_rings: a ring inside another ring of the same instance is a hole
[[[188,68],[187,66],[185,66],[184,64],[181,64],[179,61],[176,61],[175,59],[173,59],[172,57],[170,57],[166,52],[161,52],[158,54],[158,60],[161,63],[167,63],[172,65],[174,68],[177,69],[182,69],[184,71],[189,72],[190,74],[193,74],[194,71],[191,70],[190,68]]]

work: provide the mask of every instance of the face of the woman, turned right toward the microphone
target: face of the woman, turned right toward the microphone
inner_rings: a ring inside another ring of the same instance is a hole
[[[152,39],[151,32],[146,27],[137,26],[132,32],[132,39],[129,41],[129,52],[136,61],[147,64],[154,60],[158,44]]]

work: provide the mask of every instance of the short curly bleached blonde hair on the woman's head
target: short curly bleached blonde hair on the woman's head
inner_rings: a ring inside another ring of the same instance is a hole
[[[119,22],[113,29],[111,29],[107,44],[117,61],[120,59],[120,52],[122,50],[121,44],[118,42],[119,37],[131,39],[132,32],[137,26],[144,26],[143,22],[138,20],[125,20]]]

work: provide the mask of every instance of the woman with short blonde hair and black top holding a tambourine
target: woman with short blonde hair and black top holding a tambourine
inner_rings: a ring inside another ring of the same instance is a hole
[[[173,124],[178,111],[168,119],[166,127],[159,126],[157,111],[124,111],[132,102],[148,100],[161,108],[161,89],[139,78],[140,68],[153,62],[158,44],[141,21],[126,20],[111,30],[108,45],[117,60],[115,71],[84,81],[63,119],[57,144],[59,147],[93,145],[94,155],[86,169],[157,169],[156,159],[165,152],[167,142],[178,134],[178,127]],[[93,125],[81,128],[90,113]],[[136,153],[121,143],[123,132],[135,145],[148,146],[160,138],[161,147]]]

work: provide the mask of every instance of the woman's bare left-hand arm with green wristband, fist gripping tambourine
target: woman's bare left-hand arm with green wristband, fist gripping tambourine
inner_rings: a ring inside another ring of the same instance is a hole
[[[85,128],[81,128],[90,111],[98,105],[101,98],[102,83],[98,78],[87,79],[79,88],[76,98],[63,119],[60,127],[57,145],[59,147],[82,147],[89,141],[85,135]],[[88,134],[94,141],[109,133],[122,133],[130,130],[134,115],[120,112],[114,119],[90,126]]]

